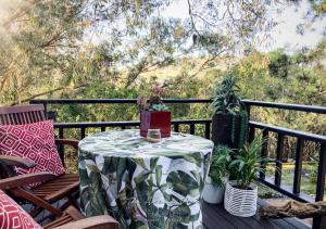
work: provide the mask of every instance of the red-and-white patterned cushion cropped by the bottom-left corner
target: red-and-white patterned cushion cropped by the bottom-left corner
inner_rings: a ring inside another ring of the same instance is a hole
[[[0,190],[0,228],[39,229],[39,226],[16,202]]]

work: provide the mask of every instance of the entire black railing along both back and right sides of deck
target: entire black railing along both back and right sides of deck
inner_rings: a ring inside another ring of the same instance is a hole
[[[209,99],[165,99],[165,103],[202,103],[209,104],[212,101]],[[254,107],[264,107],[264,109],[278,109],[286,111],[297,111],[297,112],[306,112],[315,114],[326,114],[326,107],[323,106],[311,106],[311,105],[299,105],[299,104],[283,104],[283,103],[273,103],[273,102],[263,102],[263,101],[250,101],[243,100],[247,111],[252,112]],[[71,99],[59,99],[59,100],[32,100],[30,103],[41,103],[45,105],[46,110],[50,104],[114,104],[114,103],[129,103],[136,104],[136,99],[87,99],[87,100],[71,100]],[[179,131],[181,125],[188,125],[189,132],[196,133],[196,128],[198,125],[204,126],[204,137],[210,139],[211,137],[211,119],[177,119],[172,122],[172,127],[174,131]],[[121,129],[129,127],[138,127],[139,122],[90,122],[90,123],[55,123],[54,127],[59,130],[59,138],[64,138],[65,129],[79,129],[80,138],[86,136],[87,128],[100,128],[101,131],[104,131],[108,127],[118,127]],[[260,131],[258,131],[260,130]],[[260,132],[260,133],[258,133]],[[266,177],[264,173],[260,175],[260,181],[264,185],[271,187],[278,192],[288,195],[294,200],[302,202],[313,202],[313,201],[323,201],[324,200],[324,188],[325,188],[325,174],[326,174],[326,137],[315,133],[310,133],[306,131],[300,131],[284,127],[271,126],[268,124],[258,123],[254,120],[249,122],[249,141],[251,141],[256,135],[262,135],[264,139],[264,145],[262,149],[262,156],[267,156],[271,152],[267,151],[268,145],[268,136],[276,135],[276,148],[275,155],[277,162],[275,166],[274,179]],[[294,138],[296,139],[296,154],[294,154],[294,175],[293,175],[293,186],[287,187],[281,183],[281,171],[283,171],[283,155],[284,155],[284,141],[285,138]],[[317,166],[317,182],[315,187],[315,200],[310,195],[301,192],[301,174],[302,174],[302,161],[303,161],[303,149],[304,142],[311,141],[319,144],[318,152],[318,166]],[[314,220],[314,227],[317,228],[321,218]]]

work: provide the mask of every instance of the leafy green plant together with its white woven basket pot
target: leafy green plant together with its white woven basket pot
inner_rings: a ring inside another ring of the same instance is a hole
[[[224,207],[233,215],[250,217],[256,212],[258,187],[252,181],[263,171],[262,165],[271,162],[259,156],[262,142],[256,137],[250,144],[243,145],[230,163],[236,180],[226,183]]]

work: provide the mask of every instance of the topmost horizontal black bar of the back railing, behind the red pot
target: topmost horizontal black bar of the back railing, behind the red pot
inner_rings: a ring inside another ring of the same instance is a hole
[[[163,99],[164,103],[211,103],[210,99]],[[96,104],[96,103],[137,103],[137,99],[54,99],[30,100],[29,103],[47,104]]]

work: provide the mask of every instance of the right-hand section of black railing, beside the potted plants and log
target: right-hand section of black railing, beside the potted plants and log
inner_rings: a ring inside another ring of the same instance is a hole
[[[279,110],[290,110],[315,114],[326,114],[326,107],[323,106],[310,106],[310,105],[299,105],[299,104],[281,104],[281,103],[271,103],[261,101],[244,101],[250,116],[250,110],[252,106],[261,106],[268,109],[279,109]],[[289,128],[271,126],[267,124],[262,124],[258,122],[249,122],[249,141],[255,136],[255,130],[262,130],[262,138],[265,139],[264,145],[262,148],[262,156],[267,156],[267,144],[268,136],[271,132],[277,135],[277,147],[276,147],[276,169],[274,175],[274,180],[266,178],[265,173],[260,175],[260,181],[269,188],[301,202],[314,202],[324,201],[324,190],[325,190],[325,175],[326,175],[326,137],[321,135],[314,135],[306,131],[293,130]],[[284,155],[284,141],[286,137],[296,138],[296,154],[294,154],[294,175],[292,188],[289,186],[281,185],[281,171],[283,171],[283,155]],[[302,175],[302,162],[303,162],[303,149],[304,142],[312,141],[319,144],[318,152],[318,165],[317,165],[317,180],[315,187],[315,199],[301,192],[301,175]],[[322,228],[322,217],[315,217],[313,219],[313,228]]]

